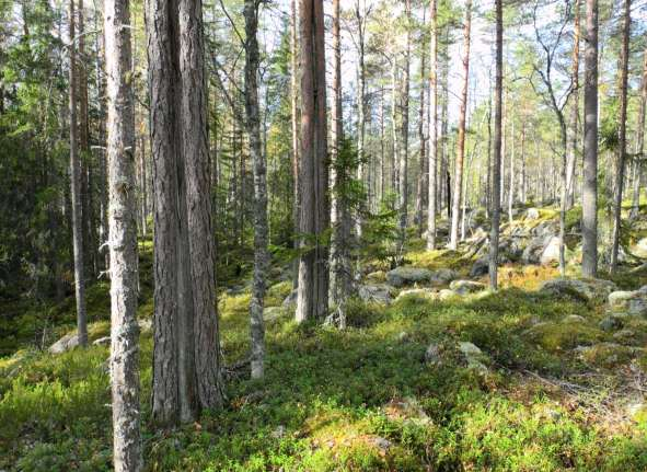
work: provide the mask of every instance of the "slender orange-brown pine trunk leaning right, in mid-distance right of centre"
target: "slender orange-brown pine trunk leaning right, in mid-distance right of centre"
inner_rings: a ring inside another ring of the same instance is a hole
[[[463,186],[463,161],[465,158],[465,115],[467,113],[467,84],[470,82],[470,30],[472,26],[472,0],[465,2],[465,27],[463,32],[463,85],[461,91],[461,110],[459,113],[459,136],[457,143],[457,163],[454,189],[452,195],[451,233],[449,246],[457,250],[459,245],[459,220],[461,210],[461,188]]]

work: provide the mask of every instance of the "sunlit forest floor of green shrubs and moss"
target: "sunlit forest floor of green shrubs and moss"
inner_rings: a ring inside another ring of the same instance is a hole
[[[469,278],[469,251],[427,252],[414,239],[405,260]],[[152,316],[151,262],[147,241],[142,320]],[[372,268],[369,278],[382,284],[386,267]],[[152,334],[143,323],[146,470],[645,471],[647,319],[601,325],[609,307],[597,290],[540,290],[557,275],[517,262],[502,266],[496,293],[440,296],[442,287],[423,283],[396,297],[390,288],[391,302],[351,301],[342,332],[297,325],[282,303],[291,283],[275,280],[265,380],[227,371],[224,410],[172,431],[150,427]],[[614,281],[637,289],[647,269]],[[91,341],[109,334],[107,289],[90,290]],[[228,365],[249,352],[249,300],[245,288],[220,295]],[[57,335],[73,327],[73,300],[47,313]],[[0,358],[0,470],[111,469],[107,357],[105,344],[58,355],[25,344]]]

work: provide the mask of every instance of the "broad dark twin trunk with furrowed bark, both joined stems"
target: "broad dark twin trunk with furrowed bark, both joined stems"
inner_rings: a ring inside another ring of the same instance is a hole
[[[199,0],[149,0],[154,182],[153,419],[222,401]]]

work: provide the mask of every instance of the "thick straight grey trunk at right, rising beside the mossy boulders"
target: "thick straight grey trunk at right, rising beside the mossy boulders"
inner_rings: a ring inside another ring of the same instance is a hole
[[[585,277],[596,277],[598,274],[598,0],[586,1],[581,272]]]

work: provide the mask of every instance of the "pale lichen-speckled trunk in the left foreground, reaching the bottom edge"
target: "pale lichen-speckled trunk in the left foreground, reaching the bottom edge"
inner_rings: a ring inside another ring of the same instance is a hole
[[[139,427],[135,114],[128,0],[106,0],[108,246],[111,256],[111,381],[113,462],[117,472],[142,468]]]

